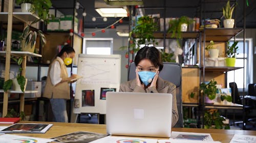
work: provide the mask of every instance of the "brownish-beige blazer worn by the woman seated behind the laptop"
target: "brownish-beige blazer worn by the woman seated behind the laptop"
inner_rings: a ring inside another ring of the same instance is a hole
[[[140,93],[170,93],[173,95],[173,116],[172,127],[177,123],[179,119],[177,101],[176,101],[176,85],[172,82],[163,80],[161,77],[157,79],[157,88],[151,87],[143,89],[136,85],[136,79],[121,83],[119,92],[140,92]]]

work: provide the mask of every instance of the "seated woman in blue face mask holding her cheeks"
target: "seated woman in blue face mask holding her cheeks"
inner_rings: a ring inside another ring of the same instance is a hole
[[[170,93],[173,96],[172,126],[179,117],[176,101],[176,85],[159,77],[163,69],[160,51],[155,47],[141,48],[134,60],[136,79],[121,83],[119,92]]]

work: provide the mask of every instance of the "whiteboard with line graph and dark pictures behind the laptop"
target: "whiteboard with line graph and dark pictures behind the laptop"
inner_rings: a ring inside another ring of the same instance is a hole
[[[119,91],[121,55],[79,54],[74,113],[105,114],[105,93]]]

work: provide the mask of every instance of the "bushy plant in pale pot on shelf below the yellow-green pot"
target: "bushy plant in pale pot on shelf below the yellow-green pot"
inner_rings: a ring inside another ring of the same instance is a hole
[[[200,83],[200,91],[205,96],[205,103],[214,103],[214,100],[216,98],[217,93],[217,82],[214,79],[211,79],[208,83],[202,82]]]

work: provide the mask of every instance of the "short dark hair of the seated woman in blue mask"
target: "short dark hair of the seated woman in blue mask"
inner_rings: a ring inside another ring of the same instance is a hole
[[[150,60],[156,68],[159,67],[159,71],[163,69],[161,54],[156,47],[144,46],[143,48],[141,48],[135,56],[135,59],[134,59],[135,65],[138,66],[140,61],[144,59]]]

